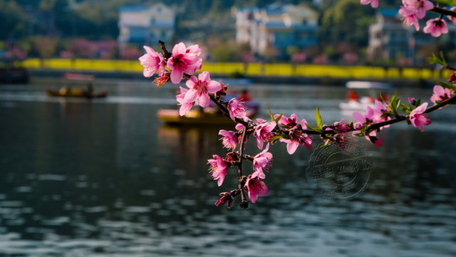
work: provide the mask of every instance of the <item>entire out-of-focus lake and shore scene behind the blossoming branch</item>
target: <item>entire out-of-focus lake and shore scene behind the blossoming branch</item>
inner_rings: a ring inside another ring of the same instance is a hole
[[[399,4],[0,0],[0,256],[456,256],[454,107],[424,132],[383,130],[381,147],[353,138],[372,167],[354,197],[319,192],[314,151],[277,144],[269,194],[226,209],[214,203],[236,171],[217,187],[207,159],[233,124],[177,117],[178,86],[137,61],[158,39],[198,43],[202,70],[248,90],[252,117],[312,124],[319,107],[325,124],[349,122],[379,93],[430,102],[449,75],[425,58],[454,61],[455,27],[405,28]]]

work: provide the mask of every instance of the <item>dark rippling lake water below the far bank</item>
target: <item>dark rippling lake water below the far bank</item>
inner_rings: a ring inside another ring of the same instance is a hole
[[[0,85],[0,256],[456,256],[456,115],[429,115],[424,132],[398,124],[364,139],[364,191],[319,192],[311,150],[271,147],[269,194],[247,210],[218,208],[207,159],[224,155],[218,129],[166,127],[176,87],[97,81],[99,100],[50,98],[58,80]],[[236,87],[234,87],[236,88]],[[238,89],[240,89],[238,87]],[[252,85],[260,117],[341,115],[341,87]],[[391,95],[391,91],[388,92]],[[429,101],[431,90],[398,90]],[[257,154],[255,140],[248,154]],[[315,140],[318,144],[318,140]]]

